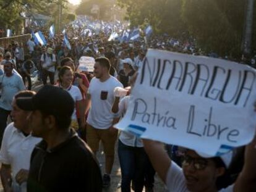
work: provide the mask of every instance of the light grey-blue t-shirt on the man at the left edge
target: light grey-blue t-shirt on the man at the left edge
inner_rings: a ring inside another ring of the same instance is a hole
[[[12,73],[11,77],[6,77],[6,74],[0,77],[0,89],[0,108],[11,111],[12,99],[19,91],[25,90],[25,86],[22,81],[22,77]]]

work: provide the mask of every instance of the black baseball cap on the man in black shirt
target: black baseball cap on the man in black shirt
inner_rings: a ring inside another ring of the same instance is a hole
[[[70,94],[62,88],[45,85],[31,98],[17,98],[17,106],[24,111],[39,110],[47,115],[70,118],[74,112],[75,102]]]

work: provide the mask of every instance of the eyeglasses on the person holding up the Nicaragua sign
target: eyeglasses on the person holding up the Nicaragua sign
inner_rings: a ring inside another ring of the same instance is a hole
[[[182,157],[182,166],[189,166],[193,162],[193,167],[195,170],[203,170],[207,167],[208,161],[203,158],[193,158],[188,155]]]

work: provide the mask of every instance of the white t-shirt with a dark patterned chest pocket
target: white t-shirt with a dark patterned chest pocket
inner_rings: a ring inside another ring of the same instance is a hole
[[[116,78],[110,76],[108,80],[101,82],[98,78],[92,78],[88,93],[91,94],[91,107],[87,123],[94,128],[108,129],[112,125],[115,115],[111,112],[114,103],[114,88],[122,87]]]

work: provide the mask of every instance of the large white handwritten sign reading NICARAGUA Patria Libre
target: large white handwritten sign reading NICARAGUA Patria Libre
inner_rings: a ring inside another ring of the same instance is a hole
[[[254,138],[255,82],[247,65],[150,49],[115,127],[218,156]]]

